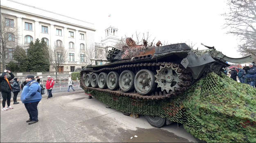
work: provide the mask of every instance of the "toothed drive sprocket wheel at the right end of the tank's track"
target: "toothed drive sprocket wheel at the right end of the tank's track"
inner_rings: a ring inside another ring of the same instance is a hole
[[[174,88],[179,88],[178,82],[182,81],[179,76],[182,74],[178,73],[177,70],[178,67],[174,68],[172,65],[160,66],[160,70],[156,70],[157,74],[155,75],[157,87],[161,87],[162,91],[166,90],[168,93],[169,90],[174,92]]]

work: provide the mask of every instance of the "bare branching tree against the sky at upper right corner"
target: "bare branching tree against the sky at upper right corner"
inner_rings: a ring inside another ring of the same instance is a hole
[[[228,33],[240,37],[238,52],[241,55],[252,55],[256,60],[256,0],[228,0],[230,11],[224,13],[231,28]]]

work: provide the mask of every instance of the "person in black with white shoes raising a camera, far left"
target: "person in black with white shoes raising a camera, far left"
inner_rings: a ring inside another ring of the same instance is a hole
[[[11,75],[11,77],[7,78],[7,73],[9,73]],[[11,73],[10,70],[5,70],[0,78],[0,90],[2,93],[2,111],[6,111],[8,109],[13,109],[13,107],[10,106],[11,104],[11,84],[10,84],[10,80],[14,79],[14,74]],[[5,107],[5,101],[7,100],[7,108]]]

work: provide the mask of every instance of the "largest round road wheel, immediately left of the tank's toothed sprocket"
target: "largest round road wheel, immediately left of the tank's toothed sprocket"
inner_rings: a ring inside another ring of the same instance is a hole
[[[134,88],[141,95],[149,95],[156,88],[156,77],[150,70],[138,71],[134,78]]]

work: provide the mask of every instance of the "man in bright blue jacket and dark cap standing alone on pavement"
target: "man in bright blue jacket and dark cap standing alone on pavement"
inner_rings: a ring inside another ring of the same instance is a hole
[[[24,103],[29,114],[29,119],[26,122],[31,125],[38,122],[37,105],[42,99],[41,86],[38,82],[33,82],[35,81],[34,75],[27,75],[26,81],[27,84],[23,87],[20,100]]]

